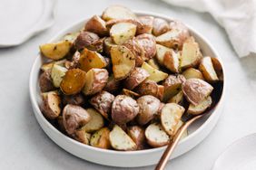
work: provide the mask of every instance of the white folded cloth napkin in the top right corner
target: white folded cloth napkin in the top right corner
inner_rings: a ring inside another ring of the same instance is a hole
[[[222,25],[239,57],[256,56],[256,0],[163,0],[207,12]]]

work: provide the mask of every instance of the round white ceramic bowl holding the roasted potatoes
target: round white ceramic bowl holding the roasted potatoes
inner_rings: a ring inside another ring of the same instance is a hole
[[[162,14],[153,14],[148,12],[137,12],[138,15],[153,15],[155,17],[161,17],[166,21],[171,21],[171,18],[164,16]],[[57,33],[54,38],[49,42],[56,42],[61,39],[65,33],[71,33],[80,30],[85,23],[86,19],[75,23],[64,29],[64,31]],[[190,26],[188,26],[192,35],[195,37],[196,41],[199,42],[202,53],[204,55],[210,55],[212,57],[217,57],[221,62],[221,58],[218,53],[212,48],[210,42],[207,42],[200,33],[197,33]],[[82,143],[75,141],[74,139],[65,136],[59,132],[54,126],[52,126],[43,116],[39,109],[39,103],[41,102],[40,90],[38,86],[38,75],[40,71],[40,66],[43,63],[43,59],[38,55],[34,61],[34,65],[31,70],[30,80],[29,80],[29,90],[32,106],[34,109],[34,116],[37,119],[40,126],[44,129],[44,132],[50,137],[58,146],[61,146],[67,152],[78,156],[87,161],[94,162],[101,165],[111,165],[120,167],[136,167],[145,165],[155,165],[157,164],[159,158],[162,156],[162,152],[165,146],[159,148],[153,148],[142,151],[114,151],[114,150],[104,150],[96,148],[93,146],[86,146]],[[223,68],[224,69],[224,68]],[[224,80],[225,81],[225,80]],[[189,136],[182,139],[179,145],[176,147],[172,157],[181,156],[182,154],[191,150],[194,146],[198,145],[202,140],[211,132],[212,128],[217,123],[218,118],[222,113],[222,104],[224,100],[225,88],[223,87],[222,99],[215,109],[212,109],[211,116],[205,116],[197,122],[195,122],[189,128]]]

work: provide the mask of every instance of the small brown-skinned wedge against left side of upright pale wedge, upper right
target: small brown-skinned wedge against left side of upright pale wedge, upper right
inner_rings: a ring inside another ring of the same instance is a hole
[[[179,72],[180,66],[180,52],[165,52],[163,56],[163,65],[172,72]]]

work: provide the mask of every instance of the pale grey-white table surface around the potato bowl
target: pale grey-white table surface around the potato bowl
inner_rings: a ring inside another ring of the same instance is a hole
[[[172,160],[166,169],[211,169],[226,146],[256,132],[256,58],[239,59],[226,33],[209,14],[198,14],[156,0],[61,0],[52,28],[18,47],[0,49],[0,89],[3,90],[0,94],[0,169],[117,169],[89,163],[55,145],[36,122],[28,92],[29,72],[38,45],[64,27],[81,18],[101,14],[105,7],[113,4],[167,14],[190,24],[212,42],[226,67],[227,99],[220,121],[199,146]],[[137,169],[153,169],[153,166]]]

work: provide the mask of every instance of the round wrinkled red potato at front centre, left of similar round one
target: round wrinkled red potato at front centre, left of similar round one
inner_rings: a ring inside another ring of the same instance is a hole
[[[139,106],[131,97],[118,95],[112,104],[112,119],[118,125],[123,125],[135,118],[139,113]]]

